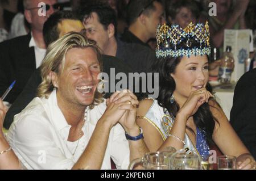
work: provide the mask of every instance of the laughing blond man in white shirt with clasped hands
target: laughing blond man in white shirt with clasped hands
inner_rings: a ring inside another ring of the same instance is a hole
[[[135,121],[136,96],[122,91],[103,99],[101,70],[98,47],[80,33],[49,45],[38,97],[15,116],[7,136],[27,169],[111,169],[110,157],[127,169],[148,151]]]

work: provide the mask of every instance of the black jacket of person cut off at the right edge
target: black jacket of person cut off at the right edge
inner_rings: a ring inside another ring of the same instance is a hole
[[[230,124],[256,159],[256,68],[237,82]]]

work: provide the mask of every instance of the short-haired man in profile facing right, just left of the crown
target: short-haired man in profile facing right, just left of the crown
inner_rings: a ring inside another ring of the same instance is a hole
[[[160,1],[131,0],[127,7],[129,28],[123,33],[121,40],[148,46],[148,40],[155,38],[158,24],[164,22],[163,14]]]

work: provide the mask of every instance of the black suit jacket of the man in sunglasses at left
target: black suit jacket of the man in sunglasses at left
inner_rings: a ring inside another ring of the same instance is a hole
[[[14,102],[36,69],[34,47],[28,47],[30,39],[28,33],[0,43],[0,95],[16,80],[7,102]]]

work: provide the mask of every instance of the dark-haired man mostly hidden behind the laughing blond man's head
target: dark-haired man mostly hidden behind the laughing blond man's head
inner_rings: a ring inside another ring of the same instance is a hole
[[[53,13],[47,21],[44,23],[43,35],[46,46],[48,47],[53,41],[59,39],[59,37],[65,35],[68,32],[81,32],[84,30],[82,22],[71,12],[71,11],[57,11]],[[116,57],[102,55],[103,61],[103,72],[110,75],[111,68],[114,68],[115,74],[120,72],[128,75],[129,72],[133,72],[129,69],[123,61]],[[40,67],[31,75],[28,79],[27,85],[24,87],[23,91],[16,98],[15,102],[9,108],[5,116],[4,127],[9,129],[11,123],[13,123],[14,115],[22,111],[28,103],[31,102],[36,96],[36,91],[39,84],[42,82],[40,75]],[[117,82],[117,81],[115,81]],[[108,82],[109,87],[111,86],[111,81]],[[109,98],[113,92],[105,92],[104,98]]]

